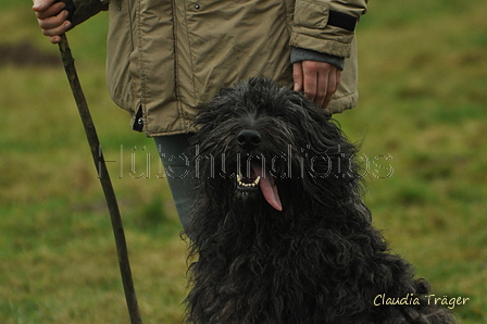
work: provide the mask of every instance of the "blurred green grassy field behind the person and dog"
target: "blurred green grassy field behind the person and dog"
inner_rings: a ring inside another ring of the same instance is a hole
[[[88,145],[30,5],[5,0],[0,21],[0,323],[128,323]],[[362,141],[376,226],[434,294],[470,298],[453,309],[465,324],[487,323],[486,15],[485,0],[371,1],[358,36],[361,100],[337,116]],[[180,323],[186,244],[152,140],[108,97],[105,33],[100,14],[68,37],[115,161],[142,319]]]

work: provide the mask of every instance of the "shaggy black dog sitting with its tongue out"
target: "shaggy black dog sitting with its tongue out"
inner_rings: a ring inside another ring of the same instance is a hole
[[[254,78],[197,124],[188,322],[455,322],[371,225],[357,149],[323,110]]]

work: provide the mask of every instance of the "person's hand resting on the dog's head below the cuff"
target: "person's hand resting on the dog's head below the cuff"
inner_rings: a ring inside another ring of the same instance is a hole
[[[304,96],[326,109],[337,91],[341,71],[329,63],[302,61],[292,64],[295,91],[304,91]]]

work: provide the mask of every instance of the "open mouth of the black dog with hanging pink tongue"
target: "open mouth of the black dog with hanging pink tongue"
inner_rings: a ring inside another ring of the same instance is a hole
[[[274,177],[265,171],[265,164],[251,162],[244,165],[244,167],[238,167],[237,189],[253,191],[259,188],[269,204],[277,211],[283,211],[277,186],[274,183]]]

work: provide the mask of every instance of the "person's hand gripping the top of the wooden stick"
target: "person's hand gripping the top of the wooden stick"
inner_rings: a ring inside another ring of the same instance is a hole
[[[33,10],[36,12],[42,34],[49,36],[52,43],[61,41],[59,35],[71,28],[71,22],[67,21],[68,12],[63,10],[64,2],[54,2],[54,0],[33,0]]]

